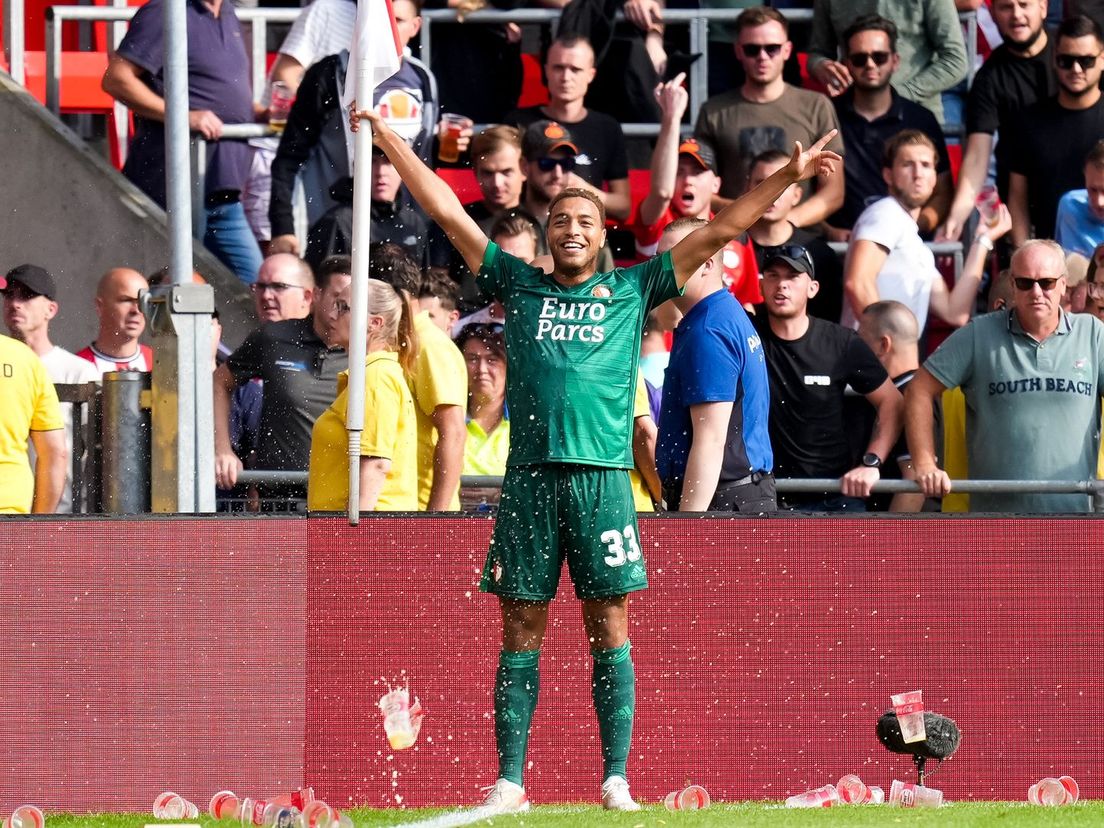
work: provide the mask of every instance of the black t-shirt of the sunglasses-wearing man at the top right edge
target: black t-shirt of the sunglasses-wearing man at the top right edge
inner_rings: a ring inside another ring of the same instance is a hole
[[[1104,138],[1104,96],[1087,109],[1065,109],[1058,98],[1049,98],[1025,110],[1019,120],[1010,170],[1027,178],[1034,235],[1051,238],[1059,200],[1085,185],[1085,156]]]

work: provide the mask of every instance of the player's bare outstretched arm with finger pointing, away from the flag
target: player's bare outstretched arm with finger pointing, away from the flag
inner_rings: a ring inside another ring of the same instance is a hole
[[[836,137],[837,131],[832,129],[804,151],[800,141],[794,141],[794,153],[789,163],[724,208],[709,224],[699,227],[671,248],[671,261],[679,287],[686,285],[707,259],[758,221],[787,187],[815,176],[832,174],[836,171],[836,163],[843,159],[826,150],[825,146]]]

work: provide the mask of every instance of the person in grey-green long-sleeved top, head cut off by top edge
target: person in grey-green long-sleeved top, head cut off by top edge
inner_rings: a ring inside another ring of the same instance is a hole
[[[813,4],[809,72],[832,97],[851,77],[837,60],[842,32],[861,14],[877,12],[901,28],[896,89],[943,120],[941,94],[966,77],[966,44],[951,0],[817,0]],[[845,56],[846,57],[846,56]]]

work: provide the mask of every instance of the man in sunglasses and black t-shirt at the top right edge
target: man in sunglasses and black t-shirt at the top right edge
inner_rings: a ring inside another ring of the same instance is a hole
[[[1085,157],[1104,135],[1102,52],[1104,33],[1091,18],[1079,14],[1059,25],[1058,95],[1026,109],[1011,134],[1008,209],[1016,247],[1031,236],[1052,237],[1059,200],[1084,183]]]

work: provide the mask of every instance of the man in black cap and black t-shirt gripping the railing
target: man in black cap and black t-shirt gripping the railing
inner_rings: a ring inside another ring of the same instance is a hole
[[[838,491],[786,495],[796,511],[866,511],[879,468],[901,433],[904,403],[882,363],[853,330],[810,317],[819,285],[804,247],[776,248],[763,268],[766,315],[755,318],[771,378],[771,445],[779,478],[839,478]],[[856,465],[848,449],[843,390],[877,411]]]

